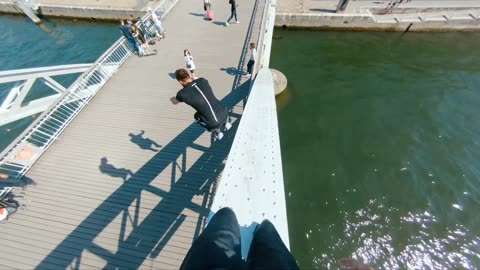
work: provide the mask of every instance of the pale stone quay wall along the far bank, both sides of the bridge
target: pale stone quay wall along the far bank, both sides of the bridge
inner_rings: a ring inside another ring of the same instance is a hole
[[[171,0],[168,0],[171,1]],[[284,12],[277,11],[275,16],[275,27],[288,28],[314,28],[331,30],[377,30],[377,31],[478,31],[480,30],[480,17],[469,17],[460,19],[444,20],[436,18],[431,20],[419,20],[418,18],[401,19],[395,22],[392,16],[401,18],[406,14],[415,12],[448,12],[458,9],[405,9],[401,14],[392,14],[390,20],[382,21],[375,18],[382,16],[370,14],[355,13],[304,13],[304,12]],[[478,9],[475,9],[478,14]],[[12,2],[0,1],[0,12],[17,13],[17,9]],[[373,13],[377,13],[372,9]],[[417,14],[420,14],[417,13]],[[70,17],[95,20],[117,20],[125,18],[137,18],[145,14],[144,10],[128,8],[103,8],[103,7],[79,7],[65,5],[42,5],[39,8],[38,15],[49,17]]]

